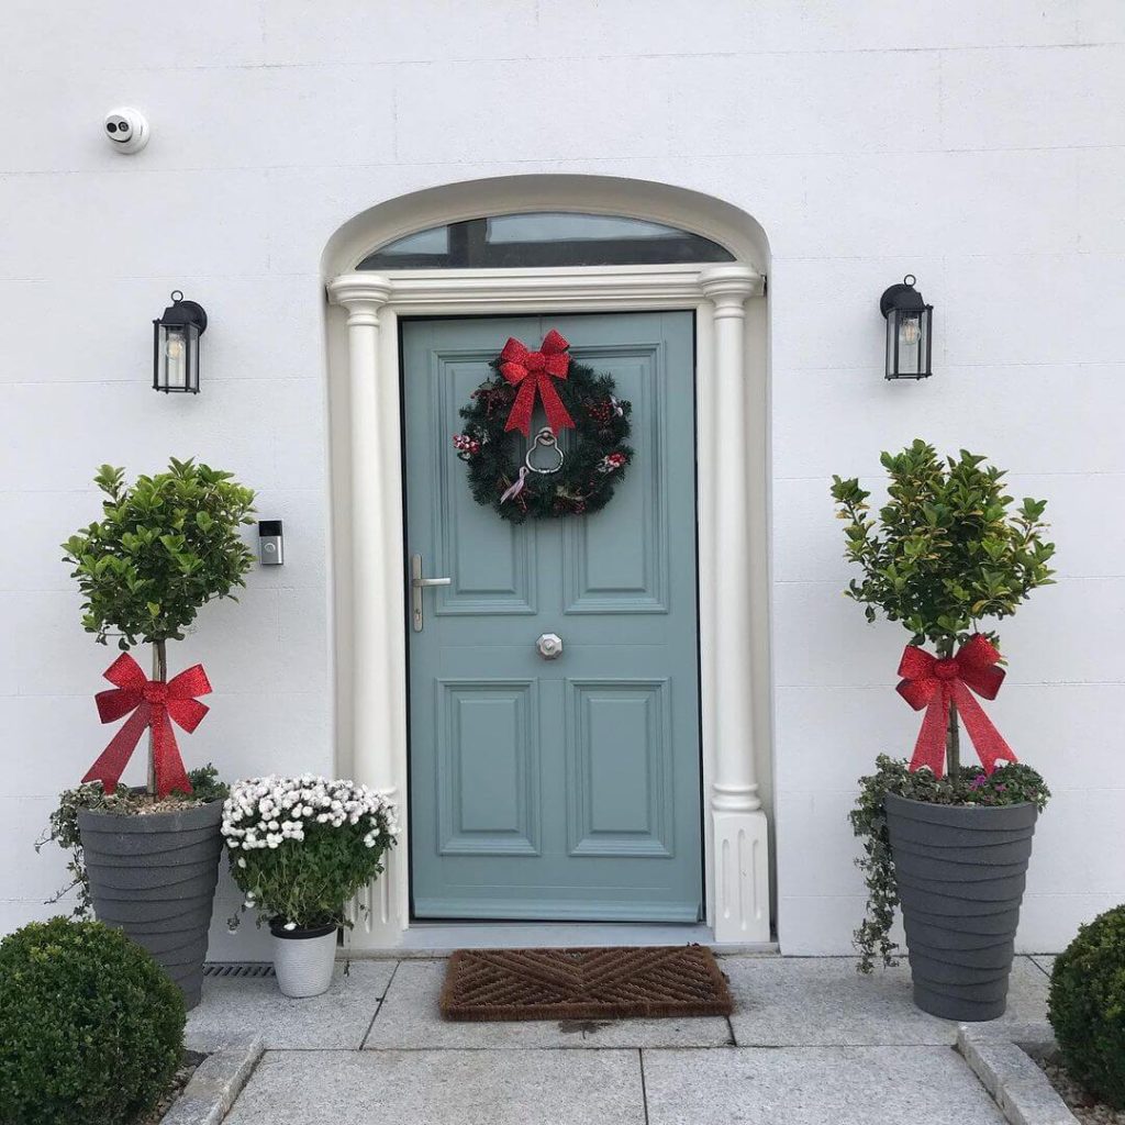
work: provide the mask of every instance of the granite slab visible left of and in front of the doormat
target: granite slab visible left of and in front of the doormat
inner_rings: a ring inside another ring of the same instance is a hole
[[[448,1023],[438,1010],[444,976],[444,961],[399,962],[363,1046],[369,1051],[397,1047],[705,1047],[731,1042],[730,1026],[722,1016]]]

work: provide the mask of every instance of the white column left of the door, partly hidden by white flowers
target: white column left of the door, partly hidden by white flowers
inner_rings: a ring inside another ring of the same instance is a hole
[[[394,656],[388,642],[399,633],[392,613],[402,579],[402,551],[390,539],[388,497],[381,487],[378,435],[381,381],[397,372],[379,369],[379,309],[390,299],[390,282],[378,274],[344,274],[328,285],[328,298],[348,309],[349,444],[351,467],[351,616],[352,762],[356,780],[405,800],[395,768],[393,738],[396,677],[388,673]],[[400,842],[402,845],[403,842]],[[406,904],[399,858],[393,852],[387,868],[368,892],[359,896],[368,908],[356,915],[356,944],[397,945],[406,926]]]

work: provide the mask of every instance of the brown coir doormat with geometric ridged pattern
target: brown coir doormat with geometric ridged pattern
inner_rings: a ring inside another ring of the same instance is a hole
[[[458,950],[441,990],[446,1019],[728,1016],[727,981],[701,945]]]

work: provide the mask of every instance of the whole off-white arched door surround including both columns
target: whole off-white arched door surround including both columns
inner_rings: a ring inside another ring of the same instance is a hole
[[[700,206],[702,201],[703,206]],[[479,215],[626,214],[695,231],[714,266],[357,272],[395,237]],[[325,255],[328,302],[338,768],[408,816],[398,317],[691,309],[696,320],[700,647],[706,922],[717,943],[771,938],[765,552],[765,244],[748,216],[681,189],[600,177],[475,181],[392,200]],[[762,263],[762,264],[759,264]],[[720,475],[721,470],[721,475]],[[716,497],[722,495],[722,503]],[[408,834],[357,918],[352,947],[410,925]],[[549,934],[544,934],[544,942]]]

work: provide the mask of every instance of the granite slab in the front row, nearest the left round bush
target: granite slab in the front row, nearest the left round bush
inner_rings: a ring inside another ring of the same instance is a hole
[[[640,1059],[636,1051],[267,1052],[225,1125],[353,1122],[645,1125]]]

